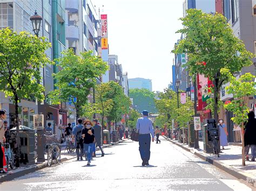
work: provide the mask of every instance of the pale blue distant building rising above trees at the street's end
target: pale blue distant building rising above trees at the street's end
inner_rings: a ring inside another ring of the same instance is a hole
[[[152,91],[152,80],[150,79],[144,79],[144,78],[133,78],[129,79],[129,89],[148,89]]]

